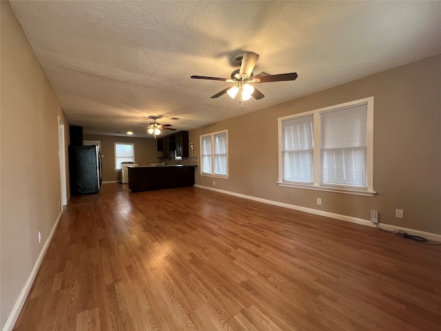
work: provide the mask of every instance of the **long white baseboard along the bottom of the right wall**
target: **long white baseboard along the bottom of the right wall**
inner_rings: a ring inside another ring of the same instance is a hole
[[[374,223],[372,223],[371,221],[368,221],[367,219],[358,219],[356,217],[334,214],[333,212],[325,212],[323,210],[306,208],[306,207],[302,207],[300,205],[290,205],[289,203],[283,203],[283,202],[272,201],[272,200],[267,200],[267,199],[262,199],[262,198],[256,198],[256,197],[252,197],[250,195],[240,194],[240,193],[236,193],[236,192],[229,192],[229,191],[225,191],[225,190],[219,190],[218,188],[210,188],[209,186],[203,186],[203,185],[198,185],[198,184],[195,184],[194,186],[196,188],[205,188],[205,190],[212,190],[212,191],[216,191],[216,192],[220,192],[220,193],[234,195],[234,197],[240,197],[240,198],[254,200],[254,201],[258,201],[258,202],[262,202],[262,203],[268,203],[269,205],[278,205],[279,207],[299,210],[300,212],[309,212],[310,214],[331,217],[332,219],[340,219],[340,221],[347,221],[347,222],[356,223],[356,224],[360,224],[360,225],[370,226],[371,228],[376,228],[376,225]],[[384,224],[384,223],[381,223],[381,227],[384,230],[389,230],[389,231],[404,230],[408,234],[411,234],[413,236],[419,236],[419,237],[423,237],[423,238],[426,238],[429,240],[441,242],[441,234],[435,234],[435,233],[431,233],[431,232],[424,232],[424,231],[413,230],[413,229],[408,229],[408,228],[400,228],[396,225],[389,225],[389,224]]]

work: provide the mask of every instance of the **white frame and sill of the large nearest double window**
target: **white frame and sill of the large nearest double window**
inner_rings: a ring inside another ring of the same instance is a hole
[[[340,108],[347,108],[356,106],[362,103],[367,105],[367,154],[366,154],[366,188],[348,187],[346,185],[322,185],[320,183],[321,170],[320,170],[320,134],[321,134],[321,117],[324,112],[330,112],[332,110],[338,110]],[[282,150],[282,122],[289,119],[295,119],[299,117],[305,117],[313,115],[313,183],[293,183],[283,180],[283,150]],[[285,117],[278,118],[278,181],[279,186],[302,188],[307,190],[320,190],[327,192],[339,192],[345,194],[356,194],[373,197],[376,191],[373,190],[373,97],[367,97],[364,99],[358,99],[349,101],[346,103],[340,103],[338,105],[329,106],[325,108],[319,108],[316,110],[310,110],[299,114],[291,114]]]

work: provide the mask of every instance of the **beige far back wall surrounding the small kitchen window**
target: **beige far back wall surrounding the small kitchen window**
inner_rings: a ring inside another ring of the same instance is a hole
[[[161,162],[158,157],[163,153],[157,151],[156,140],[153,138],[114,137],[100,134],[83,134],[83,140],[101,141],[103,157],[103,181],[121,181],[121,171],[115,171],[115,144],[134,143],[135,163],[148,165]]]

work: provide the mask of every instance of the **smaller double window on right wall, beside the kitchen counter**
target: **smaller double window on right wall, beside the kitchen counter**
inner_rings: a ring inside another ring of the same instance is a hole
[[[201,136],[201,174],[228,176],[227,130]]]

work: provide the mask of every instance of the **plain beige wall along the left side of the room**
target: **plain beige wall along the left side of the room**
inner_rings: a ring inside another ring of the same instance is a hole
[[[58,116],[69,132],[21,26],[1,1],[0,329],[61,213]]]

